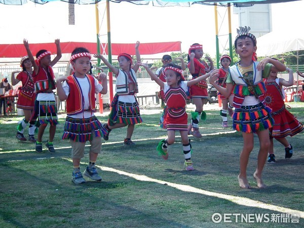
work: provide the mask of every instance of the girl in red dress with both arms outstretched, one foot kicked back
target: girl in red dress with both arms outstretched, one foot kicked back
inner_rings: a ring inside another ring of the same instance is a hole
[[[165,93],[165,102],[167,104],[166,113],[164,116],[164,128],[167,129],[168,138],[159,142],[157,150],[165,160],[168,159],[168,146],[175,142],[175,131],[179,131],[183,154],[185,158],[186,170],[193,170],[193,162],[191,161],[191,144],[187,134],[187,113],[186,113],[186,92],[187,87],[199,83],[207,79],[211,72],[206,73],[194,80],[184,81],[183,71],[180,66],[169,63],[165,65],[164,73],[166,82],[163,82],[148,68],[147,64],[142,64],[149,73],[151,79],[162,87]],[[214,73],[218,73],[214,70]]]

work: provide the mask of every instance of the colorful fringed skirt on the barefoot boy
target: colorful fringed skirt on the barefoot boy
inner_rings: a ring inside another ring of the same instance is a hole
[[[262,103],[236,108],[233,115],[233,129],[245,133],[269,129],[274,124],[270,113],[271,109]]]

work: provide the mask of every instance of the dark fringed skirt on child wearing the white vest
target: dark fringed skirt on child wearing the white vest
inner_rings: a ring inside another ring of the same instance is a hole
[[[118,96],[115,96],[111,107],[108,125],[113,126],[116,123],[124,123],[127,125],[142,123],[137,100],[135,100],[134,103],[122,102],[118,100]]]

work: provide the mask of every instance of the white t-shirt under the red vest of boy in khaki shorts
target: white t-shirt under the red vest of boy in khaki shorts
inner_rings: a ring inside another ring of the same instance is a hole
[[[89,102],[89,94],[90,94],[90,84],[87,78],[81,79],[81,78],[77,78],[79,85],[81,87],[82,93],[84,95],[84,109],[89,109],[90,107],[90,102]],[[95,93],[99,93],[102,90],[102,86],[101,84],[99,84],[98,80],[94,78],[94,84],[95,84]],[[68,96],[69,95],[69,86],[66,83],[66,81],[63,82],[62,84],[62,88],[65,92],[65,95]],[[94,112],[91,113],[91,111],[84,111],[83,113],[78,113],[76,115],[67,115],[68,117],[72,117],[72,118],[90,118],[94,116]]]

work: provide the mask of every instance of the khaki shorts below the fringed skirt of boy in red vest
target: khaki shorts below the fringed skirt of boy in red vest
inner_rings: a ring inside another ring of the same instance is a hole
[[[90,141],[90,153],[99,154],[101,151],[101,137],[96,137],[95,133],[92,132],[93,139]],[[85,156],[85,142],[75,142],[70,140],[72,146],[72,159],[81,159]]]

